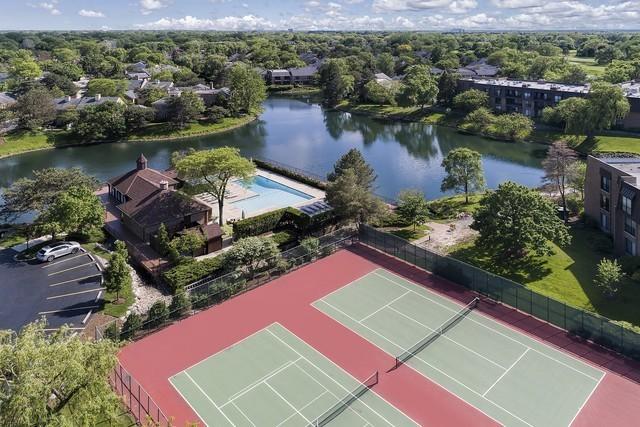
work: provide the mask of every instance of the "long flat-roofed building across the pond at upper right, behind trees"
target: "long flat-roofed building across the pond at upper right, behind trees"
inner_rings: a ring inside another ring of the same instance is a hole
[[[640,82],[627,82],[620,86],[629,100],[631,111],[618,125],[625,129],[640,129]],[[587,96],[590,85],[470,77],[458,80],[460,91],[472,88],[485,91],[489,95],[489,105],[495,111],[540,117],[545,107],[555,107],[563,99]]]

